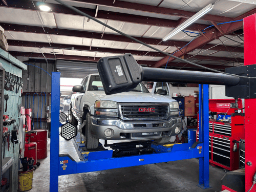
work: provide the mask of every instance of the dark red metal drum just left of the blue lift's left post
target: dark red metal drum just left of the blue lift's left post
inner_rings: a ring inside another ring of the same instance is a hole
[[[48,130],[35,130],[36,136],[30,139],[32,142],[37,143],[37,159],[47,158],[47,138]]]

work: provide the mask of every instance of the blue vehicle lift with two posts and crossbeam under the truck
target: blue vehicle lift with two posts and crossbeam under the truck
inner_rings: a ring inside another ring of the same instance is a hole
[[[162,163],[182,159],[199,158],[199,184],[201,188],[209,185],[209,121],[208,85],[199,84],[199,141],[195,143],[163,146],[152,143],[153,154],[112,157],[113,151],[84,153],[84,144],[77,142],[76,150],[82,161],[76,162],[68,154],[59,154],[59,100],[60,73],[52,72],[51,101],[51,151],[50,151],[50,192],[58,191],[58,176],[77,173],[96,172],[113,168]],[[77,139],[76,139],[77,140]]]

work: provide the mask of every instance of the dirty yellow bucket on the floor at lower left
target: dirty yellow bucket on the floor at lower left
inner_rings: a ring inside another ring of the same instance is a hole
[[[18,190],[26,191],[32,189],[34,168],[27,172],[18,172]]]

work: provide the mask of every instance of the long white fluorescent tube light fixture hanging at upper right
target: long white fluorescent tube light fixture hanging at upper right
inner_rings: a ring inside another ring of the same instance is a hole
[[[168,40],[170,37],[176,35],[186,27],[188,27],[190,24],[194,23],[197,19],[208,13],[212,8],[214,8],[214,5],[209,4],[205,8],[203,8],[201,11],[196,13],[195,15],[191,16],[189,19],[187,19],[184,23],[179,25],[177,28],[175,28],[172,32],[170,32],[168,35],[163,37],[163,40]]]

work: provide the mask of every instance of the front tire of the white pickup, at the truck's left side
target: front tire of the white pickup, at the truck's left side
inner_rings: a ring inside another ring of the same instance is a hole
[[[94,137],[92,131],[92,120],[89,113],[86,114],[86,147],[88,150],[98,148],[99,139]]]

